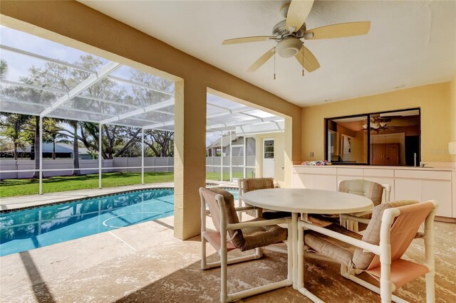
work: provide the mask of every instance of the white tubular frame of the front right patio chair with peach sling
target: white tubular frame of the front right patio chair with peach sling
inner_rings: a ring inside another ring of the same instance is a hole
[[[425,232],[418,233],[415,238],[421,238],[425,241],[425,266],[429,268],[429,272],[425,274],[426,281],[426,302],[435,302],[435,288],[434,288],[434,275],[435,275],[435,262],[434,262],[434,217],[437,212],[438,203],[430,201],[434,204],[434,208],[425,219]],[[372,245],[362,240],[351,238],[348,235],[336,233],[333,230],[328,230],[317,225],[300,220],[298,223],[298,290],[301,293],[308,294],[309,291],[304,288],[304,257],[311,257],[318,260],[326,260],[329,262],[339,263],[338,260],[333,260],[330,257],[317,255],[314,252],[304,251],[304,229],[314,230],[323,235],[328,235],[331,238],[341,240],[345,243],[354,245],[358,248],[363,248],[368,252],[373,252],[380,257],[380,287],[376,287],[371,283],[361,280],[356,277],[362,270],[348,269],[345,265],[341,265],[341,275],[346,277],[359,285],[371,289],[373,292],[380,294],[381,302],[406,302],[400,297],[393,295],[395,285],[391,282],[391,248],[390,248],[390,230],[394,218],[400,215],[398,208],[389,208],[383,212],[382,225],[380,227],[380,244]],[[358,218],[356,216],[347,216],[350,220],[357,220],[359,222],[368,223],[369,219]],[[321,302],[318,298],[312,299],[314,302]]]

